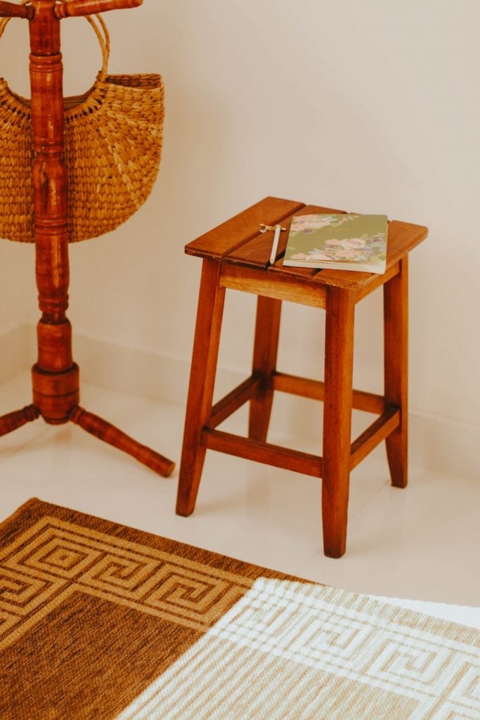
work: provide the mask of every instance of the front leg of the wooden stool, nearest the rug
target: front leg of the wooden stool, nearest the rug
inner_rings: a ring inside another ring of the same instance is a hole
[[[323,547],[327,557],[341,557],[347,539],[355,305],[349,292],[329,287],[326,310]]]

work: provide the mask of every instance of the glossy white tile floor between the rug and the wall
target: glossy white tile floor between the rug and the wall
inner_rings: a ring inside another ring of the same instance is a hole
[[[83,406],[179,462],[184,408],[82,390]],[[29,397],[19,374],[0,386],[0,413]],[[360,593],[480,606],[480,481],[413,467],[397,490],[377,449],[353,473],[347,554],[332,560],[319,481],[210,451],[196,511],[180,518],[177,477],[178,466],[164,479],[76,426],[37,420],[0,438],[0,518],[37,497]]]

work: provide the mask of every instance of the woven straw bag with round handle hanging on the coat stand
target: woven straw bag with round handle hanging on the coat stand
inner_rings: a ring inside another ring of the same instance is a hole
[[[103,66],[83,96],[65,98],[68,239],[114,230],[147,199],[158,174],[163,132],[159,75],[108,75],[109,35],[87,17]],[[8,19],[0,22],[0,37]],[[101,30],[103,32],[101,32]],[[30,101],[0,78],[0,237],[33,242]]]

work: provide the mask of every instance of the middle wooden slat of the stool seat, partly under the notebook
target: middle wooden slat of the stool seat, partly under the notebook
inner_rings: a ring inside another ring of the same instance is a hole
[[[280,233],[279,247],[276,252],[276,258],[281,258],[284,255],[286,248],[286,241],[289,237],[289,230],[291,221],[294,215],[311,215],[314,213],[321,212],[344,212],[343,210],[333,210],[331,207],[320,207],[319,205],[306,205],[302,207],[302,210],[295,210],[290,217],[286,217],[282,220],[282,227],[286,228],[286,231]],[[263,221],[265,222],[265,221]],[[266,223],[267,224],[267,223]],[[268,223],[273,225],[273,223]],[[267,269],[270,266],[270,255],[271,247],[273,243],[273,230],[268,230],[266,233],[259,233],[257,237],[248,240],[247,243],[243,243],[239,248],[235,248],[231,253],[228,253],[224,257],[225,262],[233,263],[236,265],[243,265],[245,267]],[[282,264],[276,266],[277,271],[284,271]],[[288,268],[288,270],[296,270],[296,268]],[[315,270],[309,271],[309,274],[313,274]],[[293,273],[296,275],[296,273]]]

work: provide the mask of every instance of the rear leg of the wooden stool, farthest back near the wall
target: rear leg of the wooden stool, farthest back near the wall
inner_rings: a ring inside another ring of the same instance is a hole
[[[279,349],[281,300],[258,295],[252,373],[261,376],[260,391],[250,400],[248,437],[266,442],[273,404],[272,374]]]

